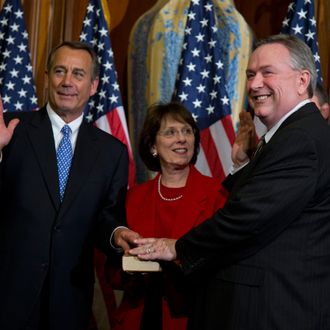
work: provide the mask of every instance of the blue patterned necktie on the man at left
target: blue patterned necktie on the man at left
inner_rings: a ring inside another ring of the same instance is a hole
[[[70,141],[71,128],[68,125],[64,125],[61,129],[61,132],[63,134],[63,138],[58,146],[56,158],[60,187],[60,198],[62,201],[71,166],[72,146]]]

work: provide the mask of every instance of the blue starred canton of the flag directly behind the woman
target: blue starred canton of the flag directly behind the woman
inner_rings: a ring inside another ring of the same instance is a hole
[[[205,129],[230,115],[225,87],[224,61],[218,46],[218,28],[211,2],[192,0],[187,17],[183,51],[174,98]]]

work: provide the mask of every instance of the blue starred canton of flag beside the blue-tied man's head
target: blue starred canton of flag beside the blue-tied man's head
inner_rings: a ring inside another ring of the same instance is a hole
[[[80,41],[93,46],[100,62],[100,82],[85,110],[88,121],[94,122],[107,112],[122,106],[114,66],[110,34],[99,1],[90,1],[83,22]]]

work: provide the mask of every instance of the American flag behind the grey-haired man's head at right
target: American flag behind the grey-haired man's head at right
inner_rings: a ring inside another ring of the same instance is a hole
[[[297,36],[311,48],[318,80],[322,84],[323,79],[314,16],[314,0],[296,0],[290,2],[288,14],[282,23],[282,33]]]

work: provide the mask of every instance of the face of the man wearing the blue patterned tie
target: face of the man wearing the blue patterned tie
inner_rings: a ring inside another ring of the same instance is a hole
[[[87,51],[67,46],[56,50],[46,72],[46,87],[52,109],[63,120],[72,121],[83,113],[97,85],[98,79],[92,79],[92,59]]]

